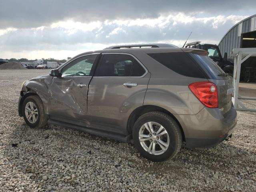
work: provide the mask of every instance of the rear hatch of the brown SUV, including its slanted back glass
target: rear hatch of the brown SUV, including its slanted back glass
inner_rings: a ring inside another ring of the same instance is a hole
[[[199,64],[200,70],[206,78],[216,84],[218,90],[218,108],[222,114],[228,112],[232,106],[232,82],[225,72],[206,55],[206,52],[190,52],[193,60]]]

